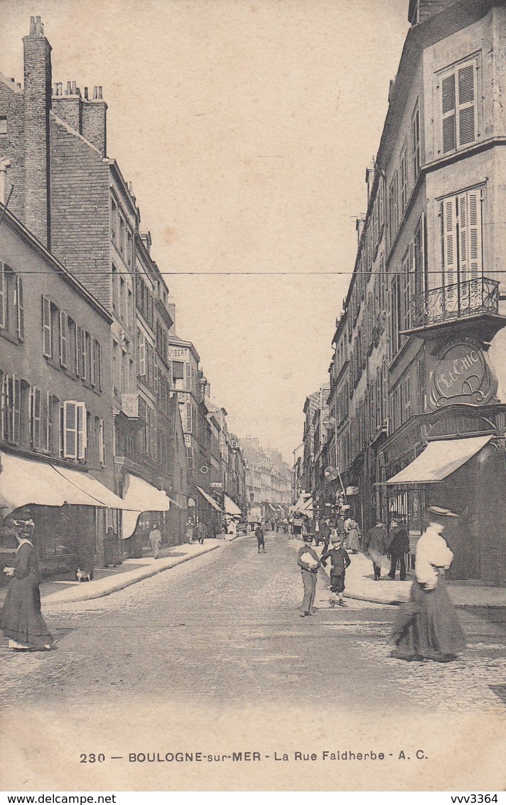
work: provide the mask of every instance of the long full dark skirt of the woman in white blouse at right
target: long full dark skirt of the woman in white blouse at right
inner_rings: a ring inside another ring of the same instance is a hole
[[[443,576],[433,590],[413,582],[408,605],[401,605],[393,626],[400,659],[426,658],[444,661],[465,647],[463,630],[450,601]]]

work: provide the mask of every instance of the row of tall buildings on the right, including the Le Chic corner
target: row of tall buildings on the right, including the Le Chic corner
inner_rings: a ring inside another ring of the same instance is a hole
[[[506,7],[410,0],[409,23],[296,482],[412,544],[454,510],[451,576],[504,585]]]

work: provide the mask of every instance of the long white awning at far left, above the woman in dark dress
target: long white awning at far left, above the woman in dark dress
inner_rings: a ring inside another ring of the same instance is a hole
[[[107,506],[125,508],[117,497],[88,473],[0,453],[0,508],[6,517],[20,506]]]

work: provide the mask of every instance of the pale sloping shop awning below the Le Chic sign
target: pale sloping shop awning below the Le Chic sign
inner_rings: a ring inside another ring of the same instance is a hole
[[[468,439],[445,439],[429,442],[425,450],[400,473],[386,481],[395,484],[434,484],[455,473],[472,456],[488,444],[492,436],[471,436]]]

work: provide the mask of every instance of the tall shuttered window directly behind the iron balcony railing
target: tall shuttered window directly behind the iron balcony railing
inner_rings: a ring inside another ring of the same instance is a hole
[[[448,287],[483,275],[483,188],[443,199],[439,213],[442,239],[442,285]]]

